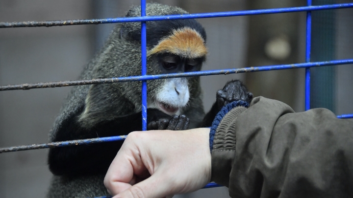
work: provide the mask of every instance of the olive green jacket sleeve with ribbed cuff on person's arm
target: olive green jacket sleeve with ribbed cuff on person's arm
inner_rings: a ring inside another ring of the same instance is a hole
[[[353,197],[353,119],[256,97],[218,125],[211,180],[232,198]]]

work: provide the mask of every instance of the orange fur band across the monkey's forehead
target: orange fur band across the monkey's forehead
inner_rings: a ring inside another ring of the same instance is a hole
[[[149,54],[172,53],[186,58],[199,58],[207,54],[201,35],[189,27],[174,30],[172,35],[163,38]]]

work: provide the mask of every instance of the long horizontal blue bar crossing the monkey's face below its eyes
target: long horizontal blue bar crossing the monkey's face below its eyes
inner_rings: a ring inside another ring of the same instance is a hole
[[[128,82],[128,81],[142,81],[142,80],[154,80],[154,79],[162,79],[162,78],[177,78],[177,77],[190,77],[190,76],[207,76],[207,75],[218,75],[218,74],[227,75],[232,73],[245,73],[245,72],[255,72],[255,71],[269,71],[269,70],[293,69],[293,68],[304,68],[304,67],[314,67],[314,66],[345,65],[345,64],[353,64],[353,59],[274,65],[274,66],[256,66],[256,67],[244,67],[244,68],[233,68],[233,69],[206,70],[206,71],[194,71],[194,72],[185,72],[185,73],[113,77],[113,78],[101,78],[101,79],[93,79],[93,80],[6,85],[6,86],[0,86],[0,91],[18,90],[18,89],[27,90],[31,88],[68,87],[68,86],[76,86],[76,85],[118,83],[118,82]]]

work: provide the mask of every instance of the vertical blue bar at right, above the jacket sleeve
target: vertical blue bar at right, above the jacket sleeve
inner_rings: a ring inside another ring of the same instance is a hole
[[[307,6],[311,6],[311,0],[307,0]],[[305,62],[310,62],[311,51],[311,11],[306,12],[306,47]],[[310,67],[305,69],[305,110],[310,109]]]

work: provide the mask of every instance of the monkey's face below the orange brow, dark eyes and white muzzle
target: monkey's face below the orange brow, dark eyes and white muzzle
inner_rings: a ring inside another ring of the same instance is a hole
[[[154,59],[161,73],[200,71],[204,61],[204,57],[191,59],[171,53],[158,54]],[[155,98],[149,101],[149,108],[157,108],[169,115],[180,114],[190,98],[187,78],[165,79],[162,82],[154,93]]]

